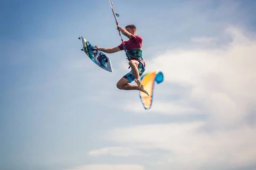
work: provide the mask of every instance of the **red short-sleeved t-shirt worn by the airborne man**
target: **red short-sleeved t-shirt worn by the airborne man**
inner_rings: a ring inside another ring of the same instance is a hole
[[[128,41],[125,41],[125,48],[131,50],[133,48],[142,47],[142,38],[138,35],[131,35],[131,38]],[[118,45],[118,48],[122,51],[124,48],[122,44]]]

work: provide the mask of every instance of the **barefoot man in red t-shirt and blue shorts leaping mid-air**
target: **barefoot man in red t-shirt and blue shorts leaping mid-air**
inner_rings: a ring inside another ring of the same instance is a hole
[[[139,90],[148,95],[148,92],[144,89],[144,85],[140,82],[140,76],[145,71],[145,62],[142,58],[142,38],[136,34],[136,27],[133,24],[125,26],[125,29],[117,26],[117,30],[120,30],[122,34],[129,38],[128,41],[125,41],[125,48],[128,52],[131,61],[129,65],[131,66],[131,71],[128,74],[125,74],[116,84],[116,87],[120,90]],[[105,52],[105,53],[116,53],[122,51],[122,44],[118,45],[115,48],[99,48],[95,45],[96,50]],[[135,81],[137,85],[131,85],[130,83]]]

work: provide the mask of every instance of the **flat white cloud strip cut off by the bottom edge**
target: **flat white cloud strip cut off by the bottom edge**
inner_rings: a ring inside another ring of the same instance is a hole
[[[65,170],[145,170],[137,164],[92,164]]]

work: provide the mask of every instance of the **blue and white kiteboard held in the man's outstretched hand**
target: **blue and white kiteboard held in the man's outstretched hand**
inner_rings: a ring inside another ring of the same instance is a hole
[[[95,46],[87,41],[84,37],[80,36],[78,39],[81,40],[81,51],[84,51],[85,54],[99,67],[106,71],[113,72],[110,59],[104,53],[102,53],[102,51],[96,50]]]

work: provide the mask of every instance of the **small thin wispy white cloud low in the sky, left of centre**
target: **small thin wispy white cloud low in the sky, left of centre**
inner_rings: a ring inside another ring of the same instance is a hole
[[[140,150],[131,147],[104,147],[97,150],[91,150],[89,152],[91,156],[140,156],[143,155]]]

